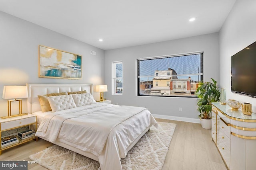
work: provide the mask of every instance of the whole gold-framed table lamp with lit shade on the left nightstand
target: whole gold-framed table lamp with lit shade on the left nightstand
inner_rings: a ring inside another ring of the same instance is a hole
[[[3,99],[14,99],[8,100],[8,116],[1,117],[2,119],[26,115],[28,113],[22,113],[22,98],[28,98],[27,86],[4,86]],[[19,102],[19,113],[12,115],[12,102]]]

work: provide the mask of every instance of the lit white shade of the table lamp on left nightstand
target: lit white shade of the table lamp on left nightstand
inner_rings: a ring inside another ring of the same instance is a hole
[[[28,98],[27,86],[4,86],[3,99]]]

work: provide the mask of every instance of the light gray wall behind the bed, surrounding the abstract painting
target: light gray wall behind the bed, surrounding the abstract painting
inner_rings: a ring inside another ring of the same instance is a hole
[[[0,116],[7,115],[7,101],[2,99],[6,85],[104,84],[104,50],[3,12],[0,12],[0,25]],[[82,80],[39,78],[38,45],[82,55]],[[90,50],[96,51],[97,55],[91,55]],[[94,93],[94,97],[99,98],[99,94]],[[25,113],[26,99],[22,101]]]

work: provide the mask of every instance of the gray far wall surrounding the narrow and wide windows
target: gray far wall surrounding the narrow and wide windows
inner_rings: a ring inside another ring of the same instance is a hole
[[[196,98],[136,96],[136,60],[144,57],[174,55],[204,51],[204,80],[219,80],[218,33],[188,37],[160,43],[139,45],[105,51],[105,83],[109,90],[106,98],[112,104],[148,108],[152,114],[198,119]],[[123,95],[111,93],[111,63],[123,61]],[[179,111],[182,107],[182,112]]]

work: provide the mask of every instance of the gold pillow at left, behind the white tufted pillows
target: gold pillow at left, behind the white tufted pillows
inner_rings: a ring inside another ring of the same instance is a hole
[[[68,95],[67,92],[61,92],[61,93],[51,93],[46,94],[44,96],[38,95],[38,100],[42,109],[42,112],[51,111],[52,108],[50,106],[50,103],[48,102],[48,96],[61,96],[61,95]]]

